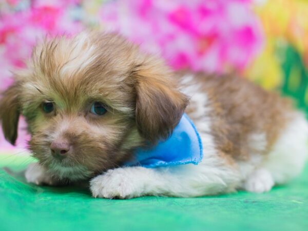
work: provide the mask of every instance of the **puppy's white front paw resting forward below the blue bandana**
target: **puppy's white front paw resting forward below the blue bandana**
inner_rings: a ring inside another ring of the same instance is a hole
[[[93,197],[101,198],[133,198],[140,196],[138,181],[134,179],[129,168],[115,168],[90,181]],[[139,189],[139,191],[138,191]]]

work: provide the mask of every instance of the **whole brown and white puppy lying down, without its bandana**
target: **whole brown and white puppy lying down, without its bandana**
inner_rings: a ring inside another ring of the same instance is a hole
[[[308,126],[288,100],[232,76],[172,73],[121,36],[81,33],[38,45],[0,102],[14,144],[20,114],[38,163],[28,182],[90,180],[94,197],[196,197],[268,191],[304,166]],[[183,112],[204,147],[199,165],[124,167],[166,139]]]

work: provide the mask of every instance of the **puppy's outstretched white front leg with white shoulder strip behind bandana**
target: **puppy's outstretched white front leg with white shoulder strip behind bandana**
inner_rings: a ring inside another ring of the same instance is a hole
[[[218,155],[214,137],[211,135],[211,118],[208,115],[205,93],[194,94],[191,90],[190,117],[199,118],[195,125],[204,147],[203,160],[198,165],[186,164],[172,167],[144,168],[124,167],[108,170],[90,182],[94,197],[133,198],[145,195],[198,197],[235,191],[240,184],[238,169]],[[185,92],[188,95],[189,92]],[[201,119],[202,118],[202,119]]]

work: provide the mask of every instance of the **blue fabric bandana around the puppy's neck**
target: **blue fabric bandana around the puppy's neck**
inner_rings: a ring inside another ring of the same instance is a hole
[[[171,136],[150,149],[138,148],[126,166],[155,168],[179,164],[198,164],[203,157],[200,135],[186,114]]]

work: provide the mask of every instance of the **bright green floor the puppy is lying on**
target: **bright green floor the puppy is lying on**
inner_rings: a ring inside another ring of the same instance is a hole
[[[308,166],[266,194],[108,200],[91,198],[87,189],[27,184],[16,172],[28,162],[0,156],[1,231],[308,230]]]

